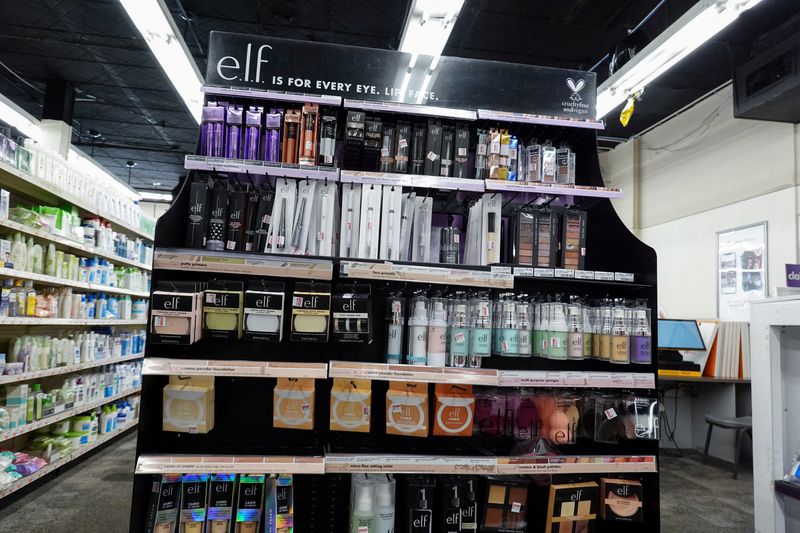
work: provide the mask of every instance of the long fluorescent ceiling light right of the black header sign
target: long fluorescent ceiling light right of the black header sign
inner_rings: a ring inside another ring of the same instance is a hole
[[[641,91],[761,0],[700,0],[597,88],[597,118]]]

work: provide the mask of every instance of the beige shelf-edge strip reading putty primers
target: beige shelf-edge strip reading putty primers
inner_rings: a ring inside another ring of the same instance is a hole
[[[333,277],[333,261],[302,256],[249,253],[208,252],[190,248],[158,248],[154,268],[221,274],[245,274],[329,280]]]

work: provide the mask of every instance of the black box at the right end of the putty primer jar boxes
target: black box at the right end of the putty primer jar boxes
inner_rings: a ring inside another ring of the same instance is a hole
[[[334,341],[372,342],[370,290],[367,284],[337,285],[331,303]]]

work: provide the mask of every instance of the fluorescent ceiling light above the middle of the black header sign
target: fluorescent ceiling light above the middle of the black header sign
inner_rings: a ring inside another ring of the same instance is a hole
[[[400,51],[438,57],[450,38],[464,0],[413,0]]]

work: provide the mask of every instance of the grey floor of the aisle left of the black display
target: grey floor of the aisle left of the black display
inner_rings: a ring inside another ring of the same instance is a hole
[[[0,533],[128,531],[136,432],[0,510]]]

